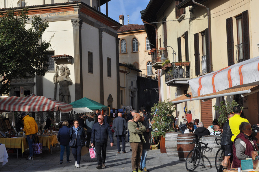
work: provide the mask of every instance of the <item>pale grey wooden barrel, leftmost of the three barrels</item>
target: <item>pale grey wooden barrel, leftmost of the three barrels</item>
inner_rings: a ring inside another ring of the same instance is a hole
[[[167,156],[178,156],[176,148],[177,135],[182,132],[167,132],[165,134],[165,149]]]

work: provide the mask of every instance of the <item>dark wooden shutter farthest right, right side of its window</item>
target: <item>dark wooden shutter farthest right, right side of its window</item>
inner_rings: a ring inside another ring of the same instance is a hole
[[[242,31],[243,31],[243,52],[244,60],[250,59],[250,47],[249,47],[249,19],[248,10],[242,12]]]

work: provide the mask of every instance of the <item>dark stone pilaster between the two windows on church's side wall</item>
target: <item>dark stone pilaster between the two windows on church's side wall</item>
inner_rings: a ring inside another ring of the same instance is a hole
[[[99,68],[100,68],[100,103],[104,104],[103,91],[103,29],[99,29]]]

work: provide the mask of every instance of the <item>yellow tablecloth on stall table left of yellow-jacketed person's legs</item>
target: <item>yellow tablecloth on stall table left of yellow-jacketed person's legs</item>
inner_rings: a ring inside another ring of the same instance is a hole
[[[20,138],[0,138],[0,143],[4,144],[7,148],[16,148],[16,149],[22,149],[22,153],[27,149],[28,142],[26,137],[20,137]]]

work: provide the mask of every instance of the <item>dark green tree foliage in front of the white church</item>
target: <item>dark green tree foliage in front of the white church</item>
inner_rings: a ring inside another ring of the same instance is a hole
[[[29,20],[31,24],[25,25]],[[40,39],[48,26],[39,16],[29,19],[27,8],[0,13],[0,94],[9,93],[12,78],[45,75],[51,44]]]

